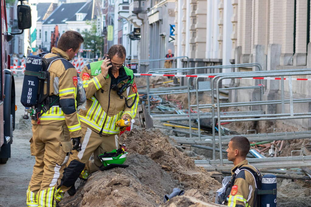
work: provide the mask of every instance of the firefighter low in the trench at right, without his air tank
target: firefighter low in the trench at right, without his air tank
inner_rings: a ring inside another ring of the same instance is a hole
[[[255,196],[255,177],[251,173],[254,171],[260,175],[259,171],[252,165],[248,165],[246,155],[249,152],[250,143],[246,137],[235,136],[233,137],[227,149],[228,160],[233,161],[234,167],[231,168],[231,191],[229,200],[226,203],[228,206],[241,207],[241,206],[257,206]],[[251,170],[248,170],[248,167]],[[232,178],[235,176],[234,180]]]

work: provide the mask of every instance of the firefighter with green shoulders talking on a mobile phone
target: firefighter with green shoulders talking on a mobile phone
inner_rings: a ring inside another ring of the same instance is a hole
[[[89,165],[96,150],[101,153],[120,148],[120,127],[116,121],[134,119],[137,112],[138,93],[131,69],[124,66],[126,57],[122,45],[113,45],[102,61],[87,64],[80,74],[86,91],[86,107],[80,109],[82,127],[81,151],[73,150],[65,169],[60,189],[75,193],[74,183],[82,170]],[[97,153],[97,154],[98,154]],[[93,172],[102,163],[94,157]]]

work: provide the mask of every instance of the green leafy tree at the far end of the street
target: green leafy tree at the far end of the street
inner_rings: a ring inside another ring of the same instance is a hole
[[[81,33],[84,38],[84,48],[93,50],[94,54],[103,54],[104,38],[101,36],[100,32],[97,32],[96,20],[88,21],[86,24],[91,25],[91,29]]]

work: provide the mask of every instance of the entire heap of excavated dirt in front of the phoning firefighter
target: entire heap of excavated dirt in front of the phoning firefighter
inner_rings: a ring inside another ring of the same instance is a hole
[[[173,147],[160,130],[133,130],[122,135],[129,156],[128,168],[98,171],[75,196],[61,206],[159,206],[173,188],[197,189],[205,201],[214,201],[220,188],[193,159]],[[203,201],[204,201],[203,200]]]

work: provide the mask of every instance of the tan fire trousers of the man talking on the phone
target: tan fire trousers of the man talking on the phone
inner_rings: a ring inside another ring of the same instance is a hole
[[[100,136],[97,132],[91,130],[82,123],[81,128],[83,134],[83,137],[81,138],[81,151],[72,151],[72,155],[70,155],[69,161],[67,162],[67,168],[70,168],[69,165],[71,161],[76,160],[86,164],[85,169],[87,169],[90,173],[93,173],[99,170],[99,167],[102,165],[101,161],[97,159],[98,155],[119,148],[119,134],[102,134],[102,136]],[[93,152],[94,161],[89,161]],[[68,174],[68,177],[70,177],[70,174]],[[64,182],[66,183],[66,180],[64,180]],[[70,187],[66,187],[64,185],[60,187],[60,189],[64,192],[66,192],[69,188]]]

